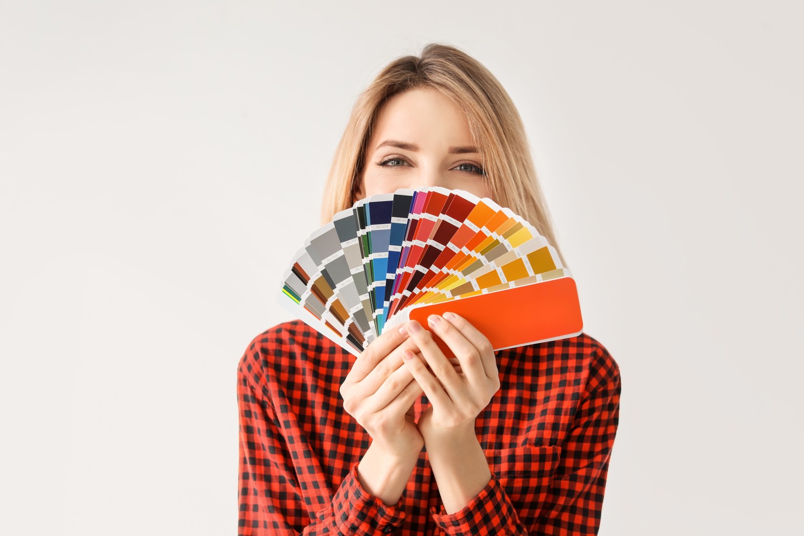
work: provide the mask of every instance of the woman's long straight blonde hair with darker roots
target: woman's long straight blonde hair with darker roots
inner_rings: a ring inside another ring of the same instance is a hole
[[[371,129],[390,97],[413,88],[433,88],[466,114],[481,154],[492,198],[521,215],[556,248],[547,203],[536,178],[527,136],[514,102],[482,63],[456,47],[429,43],[421,55],[393,60],[355,102],[335,150],[322,200],[322,223],[353,204],[366,163]]]

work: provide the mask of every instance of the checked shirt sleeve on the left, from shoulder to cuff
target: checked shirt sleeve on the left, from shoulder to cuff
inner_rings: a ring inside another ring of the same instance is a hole
[[[237,401],[240,413],[240,473],[238,534],[343,534],[381,533],[388,525],[399,526],[405,517],[401,500],[385,505],[360,485],[358,464],[343,479],[331,501],[310,505],[303,498],[298,472],[303,460],[290,454],[289,440],[279,427],[269,396],[238,369]],[[292,440],[292,438],[290,439]],[[294,464],[296,462],[297,465]],[[315,493],[330,497],[329,490]]]

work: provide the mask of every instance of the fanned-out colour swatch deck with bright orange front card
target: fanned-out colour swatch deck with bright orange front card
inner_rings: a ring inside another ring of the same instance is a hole
[[[385,329],[408,320],[426,328],[446,311],[494,350],[583,329],[575,281],[535,227],[489,198],[439,187],[372,195],[338,212],[293,257],[278,300],[355,355]]]

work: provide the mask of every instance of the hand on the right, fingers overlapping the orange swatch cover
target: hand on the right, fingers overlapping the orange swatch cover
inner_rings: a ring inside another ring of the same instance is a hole
[[[478,329],[455,313],[444,313],[443,317],[430,315],[428,324],[455,354],[460,371],[441,352],[427,329],[422,329],[417,321],[408,322],[412,342],[433,370],[431,374],[420,358],[405,350],[404,364],[431,404],[417,423],[425,444],[428,437],[437,440],[469,429],[474,434],[475,418],[500,388],[494,350]]]

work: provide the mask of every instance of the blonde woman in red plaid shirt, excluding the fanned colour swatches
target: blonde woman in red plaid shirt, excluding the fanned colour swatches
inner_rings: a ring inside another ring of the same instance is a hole
[[[435,43],[360,96],[322,222],[425,186],[492,198],[559,251],[514,104],[475,59]],[[237,387],[240,534],[597,534],[620,373],[586,333],[494,353],[445,313],[355,359],[288,321],[248,346]]]

